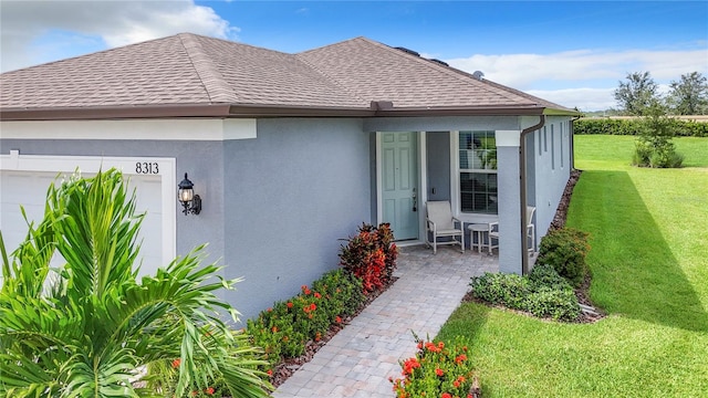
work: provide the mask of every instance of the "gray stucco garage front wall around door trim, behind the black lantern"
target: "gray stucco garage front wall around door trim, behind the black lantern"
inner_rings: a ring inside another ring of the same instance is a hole
[[[221,142],[164,142],[164,140],[60,140],[60,139],[2,139],[0,153],[19,149],[21,155],[54,156],[116,156],[176,158],[177,184],[189,174],[195,192],[202,199],[199,216],[184,216],[180,207],[177,220],[177,255],[187,254],[195,247],[208,242],[208,256],[214,262],[223,254],[223,148]],[[167,264],[164,264],[167,265]]]

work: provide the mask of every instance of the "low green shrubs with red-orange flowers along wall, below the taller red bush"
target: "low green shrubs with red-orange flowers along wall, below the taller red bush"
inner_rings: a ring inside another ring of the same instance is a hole
[[[304,354],[308,342],[320,341],[333,324],[354,314],[364,300],[357,277],[344,270],[330,271],[312,287],[303,285],[296,296],[277,302],[249,320],[247,331],[272,367]]]

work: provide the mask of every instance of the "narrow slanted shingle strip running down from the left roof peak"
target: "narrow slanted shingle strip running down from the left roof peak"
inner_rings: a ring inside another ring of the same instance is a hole
[[[238,102],[238,95],[229,86],[226,78],[211,61],[211,57],[201,48],[201,43],[195,34],[179,33],[177,34],[181,45],[187,52],[187,56],[191,61],[201,84],[204,84],[207,96],[212,103],[235,103]]]

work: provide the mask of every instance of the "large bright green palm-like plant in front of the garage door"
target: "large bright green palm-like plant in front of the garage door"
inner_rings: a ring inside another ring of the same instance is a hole
[[[201,266],[200,247],[138,282],[142,219],[112,169],[52,185],[12,261],[0,234],[1,397],[179,397],[217,378],[235,397],[268,396],[256,348],[222,321],[238,313],[214,294],[238,281]],[[66,263],[53,270],[55,251]],[[165,364],[176,365],[176,385],[136,383]]]

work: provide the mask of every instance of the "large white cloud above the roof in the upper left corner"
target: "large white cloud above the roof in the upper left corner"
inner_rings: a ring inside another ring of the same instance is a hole
[[[192,0],[3,0],[0,18],[3,72],[77,55],[62,52],[61,43],[53,51],[43,51],[42,38],[46,35],[71,35],[93,41],[94,46],[113,48],[180,32],[235,40],[238,32],[211,8],[196,6]]]

